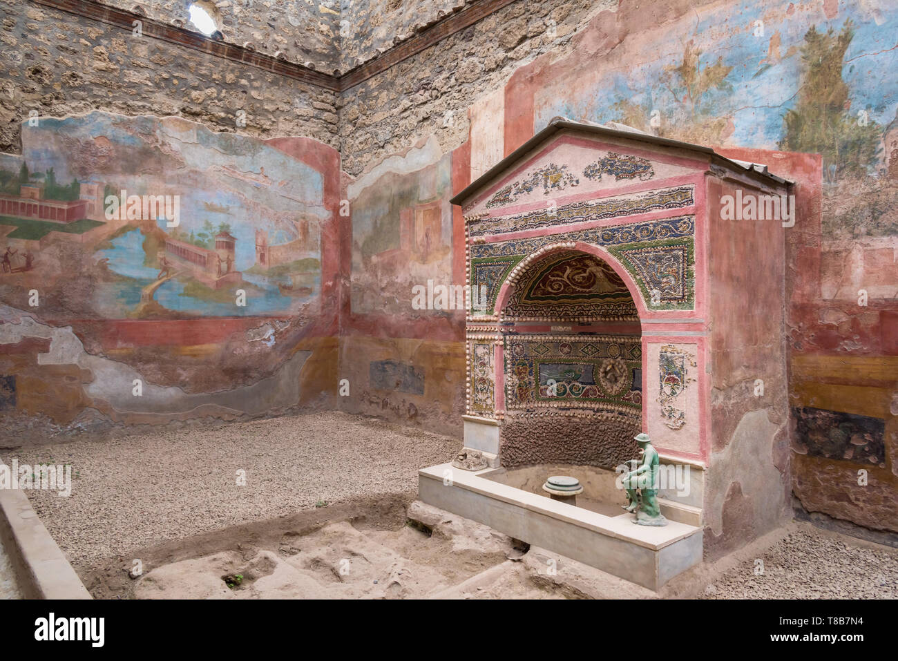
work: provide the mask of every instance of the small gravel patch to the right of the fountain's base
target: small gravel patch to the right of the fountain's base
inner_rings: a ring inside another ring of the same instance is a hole
[[[898,549],[790,524],[756,559],[705,588],[709,599],[896,599]],[[761,560],[761,563],[758,562]],[[763,573],[757,573],[761,571]]]

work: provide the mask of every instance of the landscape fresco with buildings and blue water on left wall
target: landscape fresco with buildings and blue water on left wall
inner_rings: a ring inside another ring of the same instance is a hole
[[[327,216],[322,173],[258,139],[41,118],[0,160],[0,293],[24,309],[36,289],[60,318],[301,315],[318,303]]]

